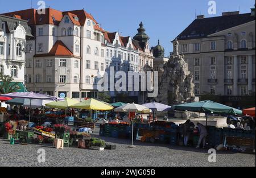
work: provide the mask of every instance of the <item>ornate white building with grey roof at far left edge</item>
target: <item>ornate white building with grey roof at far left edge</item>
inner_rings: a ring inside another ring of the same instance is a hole
[[[31,28],[19,16],[0,15],[0,72],[13,77],[19,90],[24,92],[24,48],[26,39],[32,38]],[[0,85],[2,81],[0,81]]]

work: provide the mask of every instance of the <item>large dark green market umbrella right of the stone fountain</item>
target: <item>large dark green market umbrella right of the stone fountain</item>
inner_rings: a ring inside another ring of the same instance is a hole
[[[242,114],[241,110],[229,107],[226,105],[219,104],[210,100],[192,102],[189,104],[175,105],[172,106],[173,110],[187,110],[199,113],[217,113],[217,114]]]

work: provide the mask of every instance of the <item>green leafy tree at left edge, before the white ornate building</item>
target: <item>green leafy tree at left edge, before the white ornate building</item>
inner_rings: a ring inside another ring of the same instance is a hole
[[[18,82],[12,82],[13,80],[11,76],[0,74],[0,94],[13,93],[20,89]]]

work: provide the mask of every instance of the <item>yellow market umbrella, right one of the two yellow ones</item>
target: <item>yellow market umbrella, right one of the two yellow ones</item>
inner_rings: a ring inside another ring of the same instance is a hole
[[[95,100],[93,98],[79,102],[78,104],[72,105],[71,107],[76,109],[100,110],[100,111],[108,111],[114,108],[113,106],[107,105],[104,102]]]

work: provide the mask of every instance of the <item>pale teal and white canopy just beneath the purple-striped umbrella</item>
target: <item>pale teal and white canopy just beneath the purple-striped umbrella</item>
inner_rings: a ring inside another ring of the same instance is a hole
[[[50,100],[31,100],[31,107],[41,107],[46,106],[47,103],[51,102]],[[14,98],[13,100],[9,100],[5,102],[8,105],[23,105],[26,107],[30,107],[30,99],[26,98]]]

